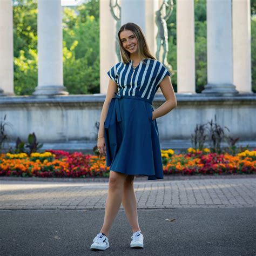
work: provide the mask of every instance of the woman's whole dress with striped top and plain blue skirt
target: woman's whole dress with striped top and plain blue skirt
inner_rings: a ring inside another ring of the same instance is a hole
[[[129,175],[163,179],[157,120],[152,120],[153,98],[170,72],[158,60],[144,59],[133,69],[132,60],[107,72],[117,83],[104,122],[106,166]]]

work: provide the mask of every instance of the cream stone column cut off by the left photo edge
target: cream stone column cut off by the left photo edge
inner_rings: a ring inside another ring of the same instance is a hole
[[[14,95],[12,1],[0,1],[0,96]]]

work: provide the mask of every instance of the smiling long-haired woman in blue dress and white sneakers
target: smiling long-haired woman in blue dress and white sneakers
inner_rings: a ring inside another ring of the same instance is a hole
[[[91,245],[97,250],[109,248],[107,237],[121,203],[132,227],[130,246],[144,247],[133,180],[135,175],[163,179],[155,119],[177,106],[170,73],[150,54],[142,29],[126,23],[118,38],[123,62],[107,72],[110,80],[98,133],[98,150],[106,155],[110,178],[104,223]],[[152,101],[158,87],[166,102],[154,110]]]

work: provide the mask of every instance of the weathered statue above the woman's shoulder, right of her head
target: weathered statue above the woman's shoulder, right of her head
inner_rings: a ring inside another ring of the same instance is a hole
[[[163,8],[165,8],[165,14],[162,14]],[[167,62],[167,55],[168,55],[168,30],[166,21],[171,17],[173,10],[173,0],[163,0],[163,3],[160,6],[160,9],[156,11],[156,25],[158,28],[157,32],[157,53],[156,57],[159,59],[159,53],[161,46],[163,47],[163,58],[160,60],[168,69],[172,71],[172,66]],[[171,72],[172,73],[172,72]]]

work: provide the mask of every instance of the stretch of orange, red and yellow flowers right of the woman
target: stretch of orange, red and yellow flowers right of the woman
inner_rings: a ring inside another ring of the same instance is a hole
[[[187,150],[186,154],[174,154],[172,150],[162,151],[164,174],[252,174],[256,171],[256,151],[244,151],[236,156]]]

